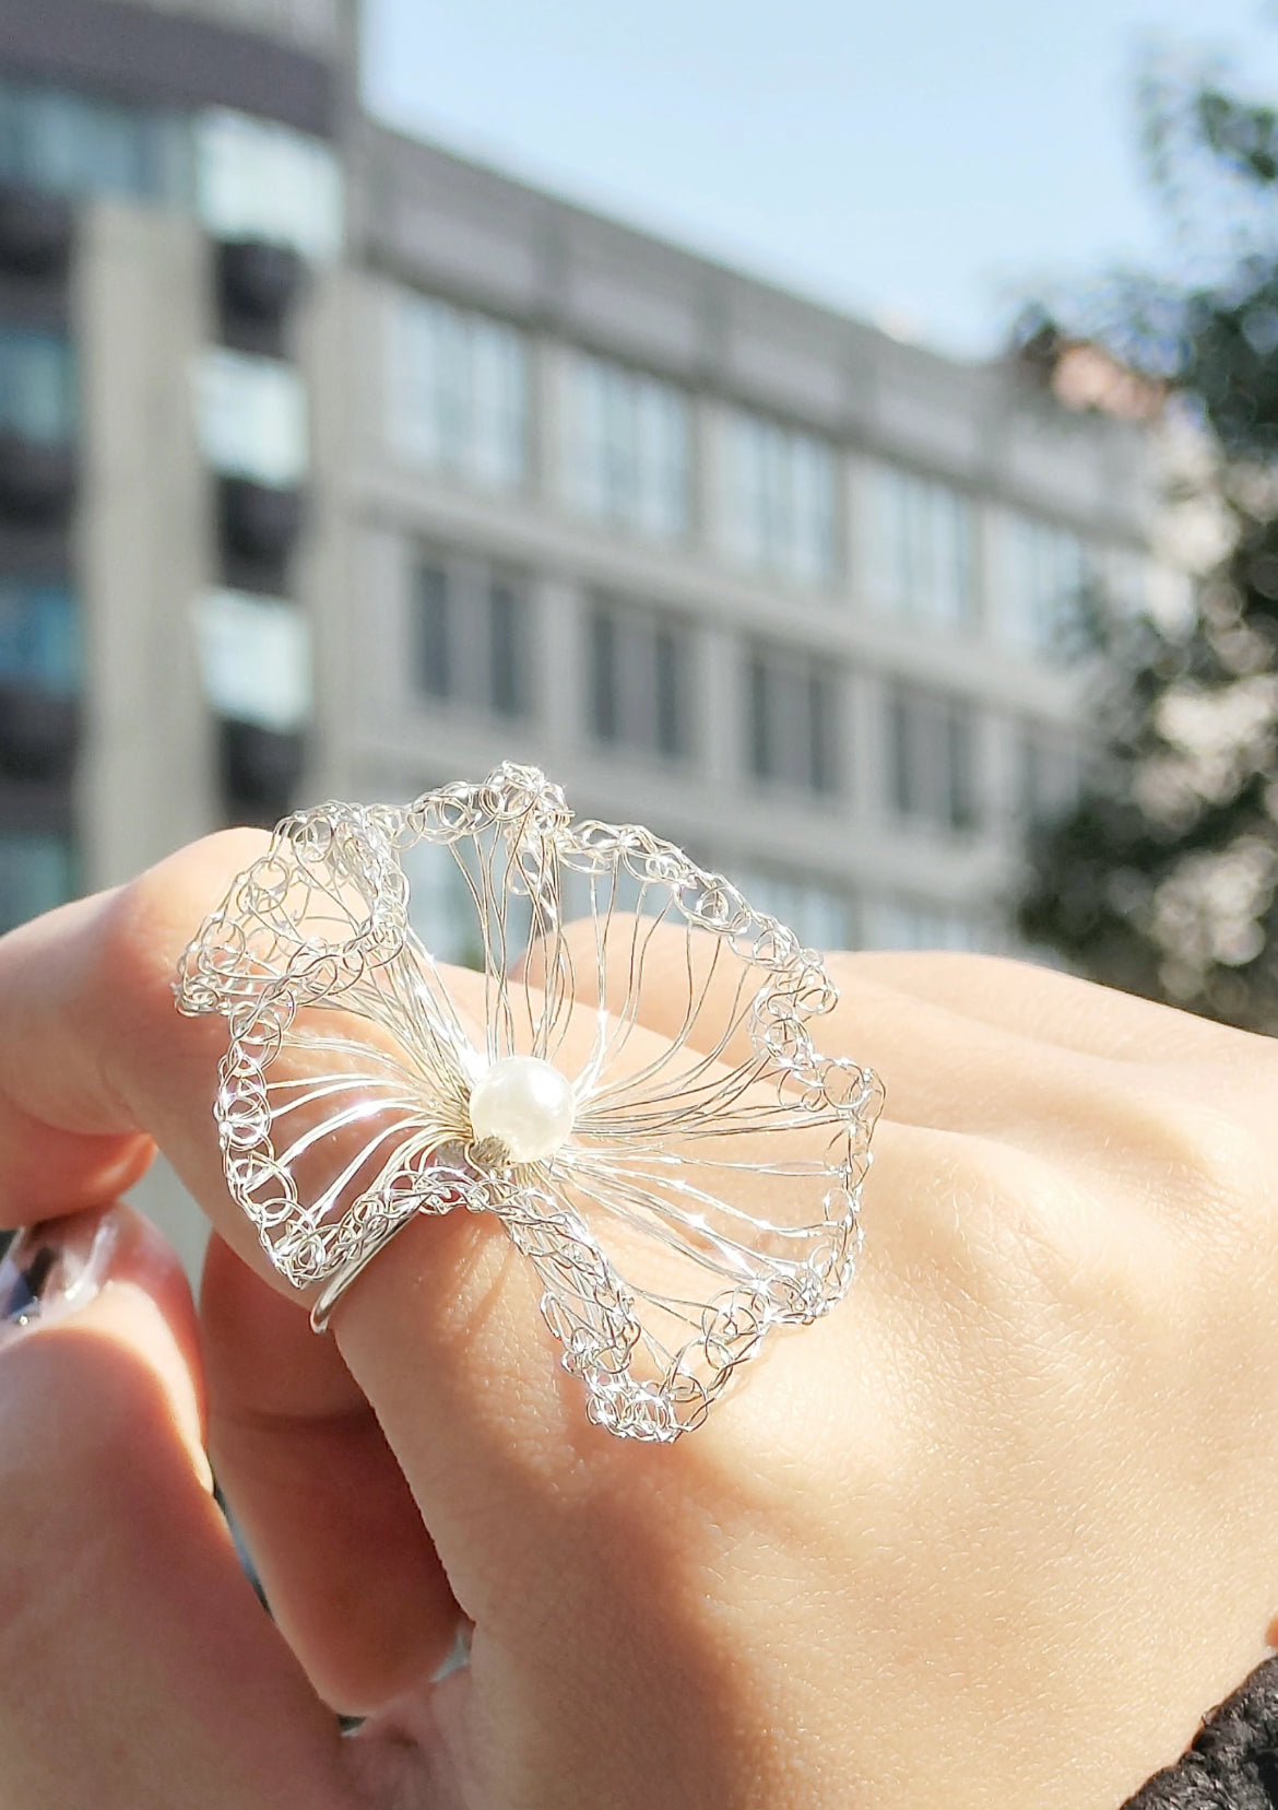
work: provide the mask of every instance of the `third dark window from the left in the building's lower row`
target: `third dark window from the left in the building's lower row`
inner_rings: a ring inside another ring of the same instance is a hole
[[[828,661],[754,648],[747,662],[748,767],[757,780],[830,793],[837,786],[837,681]]]

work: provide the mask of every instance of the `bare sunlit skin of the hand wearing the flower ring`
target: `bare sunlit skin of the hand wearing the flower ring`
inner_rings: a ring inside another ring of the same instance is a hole
[[[215,1231],[199,1321],[123,1220],[107,1289],[0,1352],[0,1810],[1114,1810],[1180,1752],[1278,1607],[1267,1041],[833,957],[819,1041],[888,1081],[851,1296],[624,1444],[492,1224],[409,1227],[331,1339],[271,1276],[224,1026],[170,988],[258,847],[0,941],[4,1224],[108,1207],[159,1142]]]

